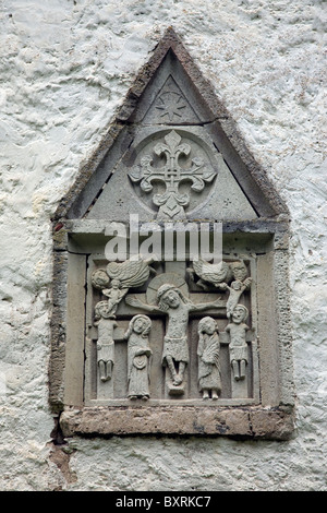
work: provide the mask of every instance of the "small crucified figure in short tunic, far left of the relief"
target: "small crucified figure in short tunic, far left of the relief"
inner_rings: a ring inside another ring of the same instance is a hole
[[[94,325],[98,329],[97,361],[100,380],[108,381],[112,378],[114,363],[113,330],[117,322],[111,318],[107,301],[99,301],[96,305]]]

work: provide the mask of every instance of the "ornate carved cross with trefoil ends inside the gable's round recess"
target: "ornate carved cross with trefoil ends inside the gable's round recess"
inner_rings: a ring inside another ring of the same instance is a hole
[[[130,174],[133,182],[140,183],[144,192],[153,190],[153,182],[164,182],[166,190],[162,194],[155,194],[153,202],[159,206],[158,219],[185,218],[184,207],[190,203],[190,194],[181,193],[179,187],[182,181],[191,181],[191,189],[201,192],[207,182],[210,182],[216,171],[206,167],[199,157],[192,158],[192,165],[185,169],[180,166],[180,157],[191,155],[192,148],[187,143],[181,144],[182,138],[172,130],[165,136],[165,143],[158,143],[154,153],[159,157],[166,157],[166,164],[161,168],[153,167],[153,157],[145,155],[141,158],[141,166],[135,167]]]

